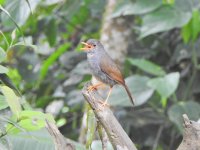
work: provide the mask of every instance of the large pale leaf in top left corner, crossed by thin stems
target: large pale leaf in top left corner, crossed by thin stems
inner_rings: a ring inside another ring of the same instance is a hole
[[[31,10],[34,11],[36,6],[41,0],[28,0]],[[7,0],[5,4],[5,10],[7,10],[12,17],[12,19],[16,22],[17,25],[23,25],[28,19],[31,10],[29,8],[28,3],[25,0]],[[14,29],[15,24],[11,18],[5,13],[1,14],[1,20],[4,28],[6,29]]]

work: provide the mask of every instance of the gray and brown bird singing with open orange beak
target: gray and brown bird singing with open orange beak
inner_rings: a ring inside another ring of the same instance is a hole
[[[92,75],[100,81],[100,83],[88,87],[88,91],[97,89],[102,85],[109,85],[109,92],[103,106],[107,105],[109,96],[111,95],[114,85],[122,85],[134,105],[134,98],[128,86],[125,83],[124,77],[114,60],[105,51],[103,44],[97,39],[89,39],[87,42],[81,42],[84,47],[81,50],[87,53],[87,61]]]

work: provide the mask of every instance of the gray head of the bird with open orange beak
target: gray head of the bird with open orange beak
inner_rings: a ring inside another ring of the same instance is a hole
[[[100,41],[96,39],[89,39],[87,40],[86,43],[85,42],[81,42],[81,43],[85,45],[85,47],[81,49],[86,51],[87,53],[95,53],[104,49]]]

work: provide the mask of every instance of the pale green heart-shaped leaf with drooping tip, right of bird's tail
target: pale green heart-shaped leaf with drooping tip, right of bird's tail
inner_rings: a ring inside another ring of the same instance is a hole
[[[168,98],[177,89],[179,84],[180,74],[178,72],[167,74],[164,77],[154,78],[148,81],[148,86],[155,89],[160,96]]]

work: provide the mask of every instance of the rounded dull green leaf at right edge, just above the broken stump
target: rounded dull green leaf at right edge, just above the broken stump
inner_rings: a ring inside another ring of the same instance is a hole
[[[179,102],[172,105],[168,110],[168,116],[178,129],[183,131],[183,114],[187,114],[191,120],[198,120],[200,117],[200,105],[196,102]]]

